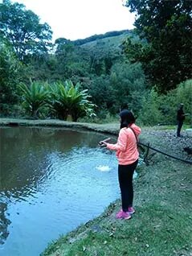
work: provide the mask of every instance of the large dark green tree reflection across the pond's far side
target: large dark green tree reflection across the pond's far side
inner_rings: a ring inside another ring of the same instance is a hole
[[[96,147],[99,140],[99,134],[67,129],[13,127],[2,129],[1,133],[0,189],[16,198],[27,196],[43,182],[48,155],[67,155],[73,147],[84,145]]]

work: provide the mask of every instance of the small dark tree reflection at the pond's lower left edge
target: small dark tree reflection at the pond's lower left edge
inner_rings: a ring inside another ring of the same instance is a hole
[[[6,218],[7,205],[0,202],[0,245],[6,242],[6,238],[9,236],[8,225],[11,221]]]

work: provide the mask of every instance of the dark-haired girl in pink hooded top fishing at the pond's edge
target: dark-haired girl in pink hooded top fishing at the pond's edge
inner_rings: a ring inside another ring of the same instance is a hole
[[[116,214],[116,218],[129,220],[135,213],[133,209],[133,172],[137,167],[139,152],[137,149],[137,139],[141,134],[141,128],[135,125],[133,113],[124,109],[120,113],[121,130],[116,144],[111,144],[105,140],[101,141],[101,147],[116,151],[118,159],[118,179],[121,189],[122,209]]]

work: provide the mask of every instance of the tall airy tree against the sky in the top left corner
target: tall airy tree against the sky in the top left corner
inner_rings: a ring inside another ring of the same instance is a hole
[[[38,15],[9,0],[0,5],[0,15],[0,33],[10,41],[19,60],[28,53],[47,52],[52,31],[47,23],[39,23]]]

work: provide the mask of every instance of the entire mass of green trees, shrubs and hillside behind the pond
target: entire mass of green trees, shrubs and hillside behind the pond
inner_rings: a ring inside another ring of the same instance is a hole
[[[1,116],[100,122],[129,105],[146,125],[175,123],[181,101],[191,113],[190,5],[130,0],[137,34],[111,31],[53,44],[47,23],[25,6],[3,0]]]

